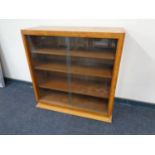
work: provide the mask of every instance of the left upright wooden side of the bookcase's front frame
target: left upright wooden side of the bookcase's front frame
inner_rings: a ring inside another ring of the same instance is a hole
[[[26,35],[22,31],[21,31],[21,34],[22,34],[22,40],[23,40],[23,44],[24,44],[24,48],[25,48],[26,58],[27,58],[27,62],[28,62],[28,66],[29,66],[29,70],[30,70],[30,74],[31,74],[32,84],[33,84],[33,88],[34,88],[34,94],[35,94],[36,101],[38,102],[39,93],[38,93],[38,87],[37,87],[35,74],[33,71],[31,53],[30,53],[30,49],[29,49],[29,45],[27,42]]]

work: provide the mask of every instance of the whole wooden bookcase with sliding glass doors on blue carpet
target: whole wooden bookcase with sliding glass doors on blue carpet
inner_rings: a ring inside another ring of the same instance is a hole
[[[37,107],[111,122],[122,28],[21,31]]]

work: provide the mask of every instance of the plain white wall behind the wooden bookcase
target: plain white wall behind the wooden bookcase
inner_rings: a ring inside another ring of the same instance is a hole
[[[31,81],[20,30],[41,25],[124,27],[126,37],[115,96],[155,104],[155,20],[0,20],[6,77]]]

